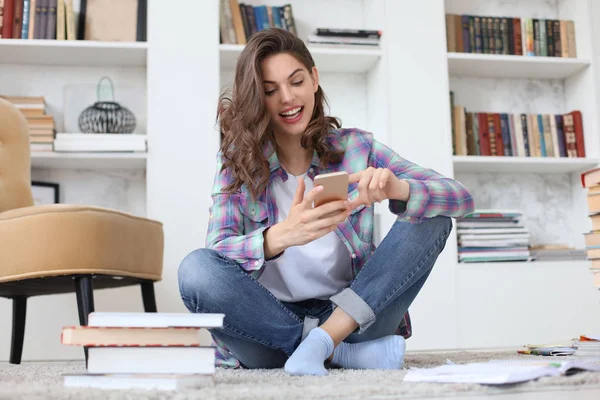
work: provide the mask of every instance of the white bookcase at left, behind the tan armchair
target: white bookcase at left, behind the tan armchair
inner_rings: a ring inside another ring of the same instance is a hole
[[[74,1],[74,8],[77,14],[78,0]],[[145,108],[148,48],[146,42],[0,39],[0,94],[43,96],[46,114],[54,117],[57,132],[65,132],[65,87],[68,85],[89,86],[95,95],[100,78],[108,76],[115,85],[116,101],[119,101],[120,87],[143,88],[136,101]],[[136,114],[136,118],[138,127],[146,126],[145,115]],[[31,178],[58,183],[61,203],[94,205],[154,218],[147,212],[149,159],[152,159],[151,152],[32,152]],[[156,287],[160,299],[160,284]],[[94,297],[97,310],[143,310],[139,287],[97,290]],[[159,310],[161,305],[168,306],[164,301],[158,304]],[[12,302],[0,299],[6,333],[11,329],[11,313]],[[59,339],[63,326],[78,324],[74,293],[31,298],[27,307],[23,360],[82,359],[80,348],[61,345]],[[10,334],[2,335],[0,361],[8,360],[9,350]]]

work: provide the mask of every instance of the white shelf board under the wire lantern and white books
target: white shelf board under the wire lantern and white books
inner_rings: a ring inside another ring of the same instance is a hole
[[[147,153],[32,152],[32,168],[145,169]]]

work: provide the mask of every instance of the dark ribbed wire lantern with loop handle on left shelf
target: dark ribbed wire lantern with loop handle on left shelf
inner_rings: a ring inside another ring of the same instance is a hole
[[[103,80],[110,83],[112,101],[100,101],[100,87]],[[79,129],[83,133],[132,133],[135,129],[135,115],[126,107],[115,102],[112,80],[104,76],[96,88],[98,101],[79,115]]]

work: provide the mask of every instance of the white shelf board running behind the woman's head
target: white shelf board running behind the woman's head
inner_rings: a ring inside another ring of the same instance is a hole
[[[322,72],[367,72],[381,58],[380,48],[350,46],[308,46],[319,71]],[[235,62],[244,49],[239,44],[219,45],[221,68],[234,69]]]

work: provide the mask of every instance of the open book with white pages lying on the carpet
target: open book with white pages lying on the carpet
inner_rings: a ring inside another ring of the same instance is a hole
[[[435,368],[410,369],[406,382],[480,383],[503,385],[531,381],[544,376],[600,371],[599,361],[493,360],[488,363],[451,364]]]

